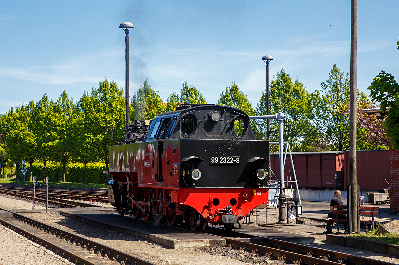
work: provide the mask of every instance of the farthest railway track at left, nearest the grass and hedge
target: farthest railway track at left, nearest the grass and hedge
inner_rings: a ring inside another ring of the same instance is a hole
[[[33,188],[19,188],[19,187],[2,187],[1,189],[5,191],[18,191],[23,193],[33,193]],[[36,194],[44,193],[45,189],[36,189]],[[59,199],[75,199],[81,201],[97,201],[102,203],[107,203],[108,194],[103,191],[69,191],[69,190],[57,190],[57,189],[49,189],[49,196]]]

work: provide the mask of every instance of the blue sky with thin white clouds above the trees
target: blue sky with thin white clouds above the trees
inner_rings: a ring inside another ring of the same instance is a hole
[[[399,1],[358,1],[358,89],[385,70],[399,81]],[[333,64],[350,70],[350,1],[2,1],[0,113],[66,90],[79,100],[104,76],[130,97],[148,78],[161,98],[196,86],[208,103],[236,82],[253,107],[282,68],[309,92]]]

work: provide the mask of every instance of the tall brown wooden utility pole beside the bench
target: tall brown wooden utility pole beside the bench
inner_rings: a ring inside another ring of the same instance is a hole
[[[349,114],[349,181],[352,185],[350,199],[350,214],[352,216],[352,231],[358,231],[358,181],[356,177],[356,53],[358,39],[358,3],[350,2],[350,114]]]

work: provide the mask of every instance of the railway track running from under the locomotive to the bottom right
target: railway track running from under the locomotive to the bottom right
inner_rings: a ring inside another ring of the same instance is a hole
[[[295,264],[318,264],[318,265],[332,265],[332,264],[353,264],[353,265],[391,265],[385,261],[369,259],[365,257],[358,257],[342,252],[322,249],[318,247],[311,247],[273,238],[257,237],[262,239],[262,244],[253,244],[243,242],[233,238],[251,238],[254,237],[249,234],[237,231],[225,231],[221,228],[213,228],[213,232],[229,236],[226,238],[227,245],[234,248],[243,248],[247,251],[256,251],[261,255],[273,256],[276,259],[285,259],[292,261]],[[297,262],[297,263],[296,263]],[[300,263],[298,263],[300,262]]]

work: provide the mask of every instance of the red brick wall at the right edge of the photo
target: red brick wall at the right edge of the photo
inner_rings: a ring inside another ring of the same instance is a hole
[[[399,212],[399,151],[388,145],[389,160],[389,210],[391,214]]]

